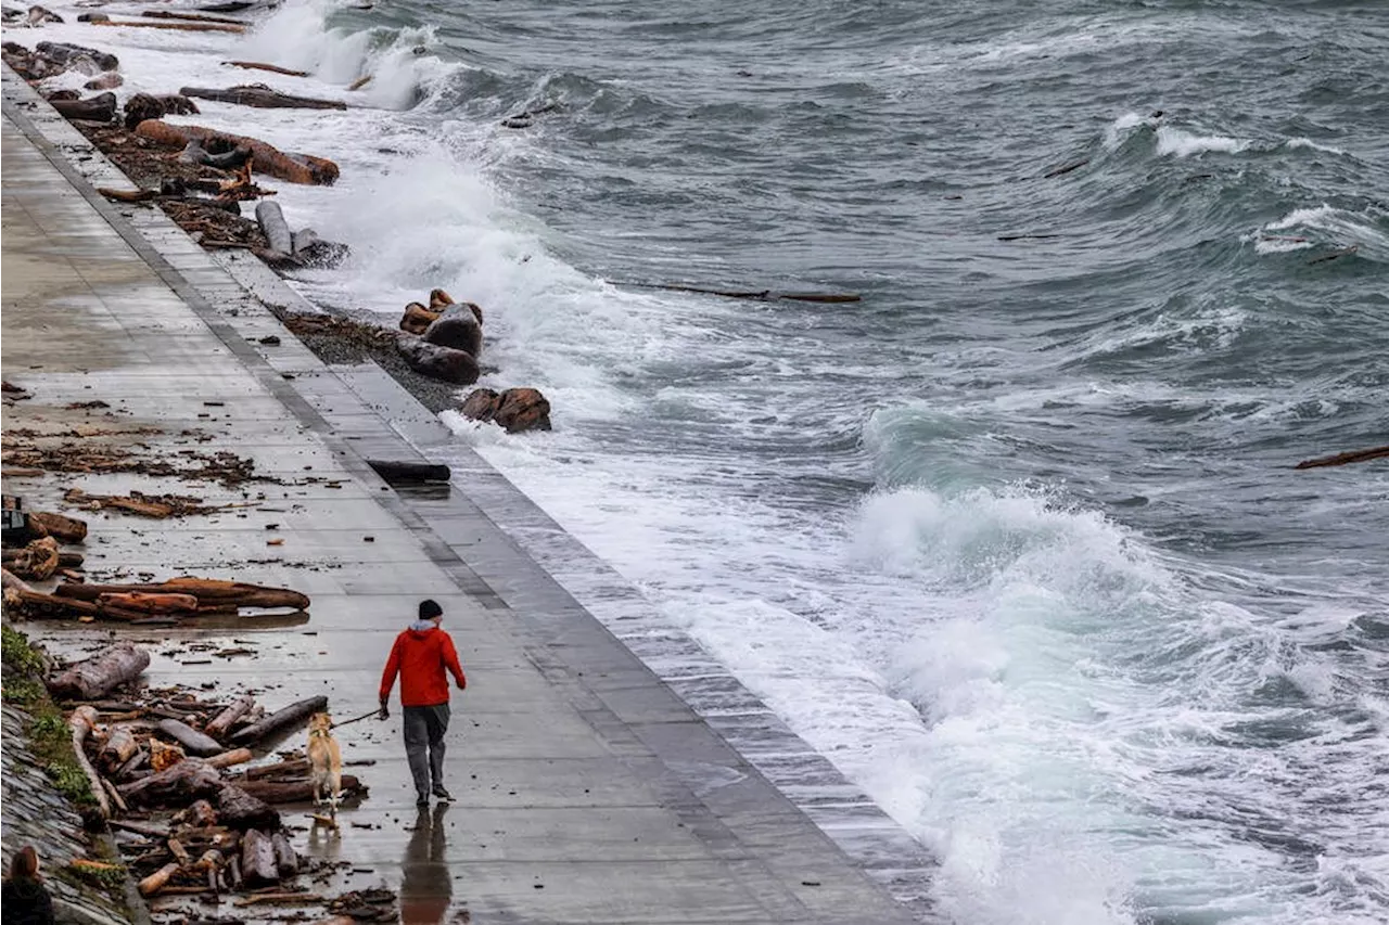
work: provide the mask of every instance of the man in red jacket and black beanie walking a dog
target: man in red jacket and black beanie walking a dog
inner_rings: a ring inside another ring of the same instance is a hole
[[[400,706],[406,718],[406,758],[415,779],[415,806],[429,806],[432,792],[451,800],[443,789],[443,733],[449,731],[449,676],[458,690],[468,686],[458,664],[458,651],[449,633],[439,629],[443,608],[432,600],[419,601],[419,619],[396,636],[381,675],[381,718],[390,717],[390,689],[400,675]],[[428,751],[428,754],[426,754]]]

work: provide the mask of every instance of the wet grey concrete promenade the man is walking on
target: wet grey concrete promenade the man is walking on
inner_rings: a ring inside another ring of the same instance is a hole
[[[50,475],[6,488],[60,508],[74,486],[247,504],[165,522],[94,515],[88,568],[228,576],[314,600],[307,625],[132,633],[157,653],[151,683],[244,686],[271,706],[328,693],[338,717],[357,715],[418,599],[444,607],[469,676],[450,733],[457,803],[417,814],[399,710],[343,729],[344,757],[374,762],[356,768],[371,796],[339,838],[306,828],[297,844],[346,861],[339,886],[400,889],[407,922],[450,910],[489,922],[915,921],[572,600],[514,610],[517,588],[499,583],[539,586],[535,562],[457,492],[382,483],[363,454],[408,446],[272,318],[239,315],[244,290],[182,232],[138,235],[42,140],[46,107],[17,108],[13,81],[10,92],[0,378],[33,399],[0,407],[0,429],[165,460],[231,451],[272,481]],[[269,335],[279,343],[258,343]],[[69,407],[93,400],[110,407]],[[486,581],[458,557],[479,543]],[[46,633],[74,651],[106,636]],[[228,646],[256,654],[215,654]]]

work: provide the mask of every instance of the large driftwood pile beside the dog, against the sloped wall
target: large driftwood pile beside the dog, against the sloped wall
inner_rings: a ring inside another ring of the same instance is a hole
[[[118,839],[143,896],[281,888],[256,901],[283,899],[300,871],[276,806],[308,803],[307,758],[258,767],[253,747],[292,732],[326,710],[310,697],[267,712],[250,696],[213,703],[181,692],[142,692],[110,699],[150,662],[124,643],[49,678],[68,701],[68,726],[97,811]],[[342,778],[343,796],[365,788]],[[332,819],[326,819],[335,824]],[[136,838],[132,838],[136,836]]]

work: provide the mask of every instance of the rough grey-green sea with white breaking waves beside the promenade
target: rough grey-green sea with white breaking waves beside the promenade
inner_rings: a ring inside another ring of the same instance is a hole
[[[1389,919],[1389,482],[1290,468],[1389,443],[1389,7],[258,21],[99,38],[122,94],[354,104],[199,121],[342,164],[276,185],[354,249],[314,301],[485,307],[483,385],[556,431],[458,439],[926,844],[949,921]]]

